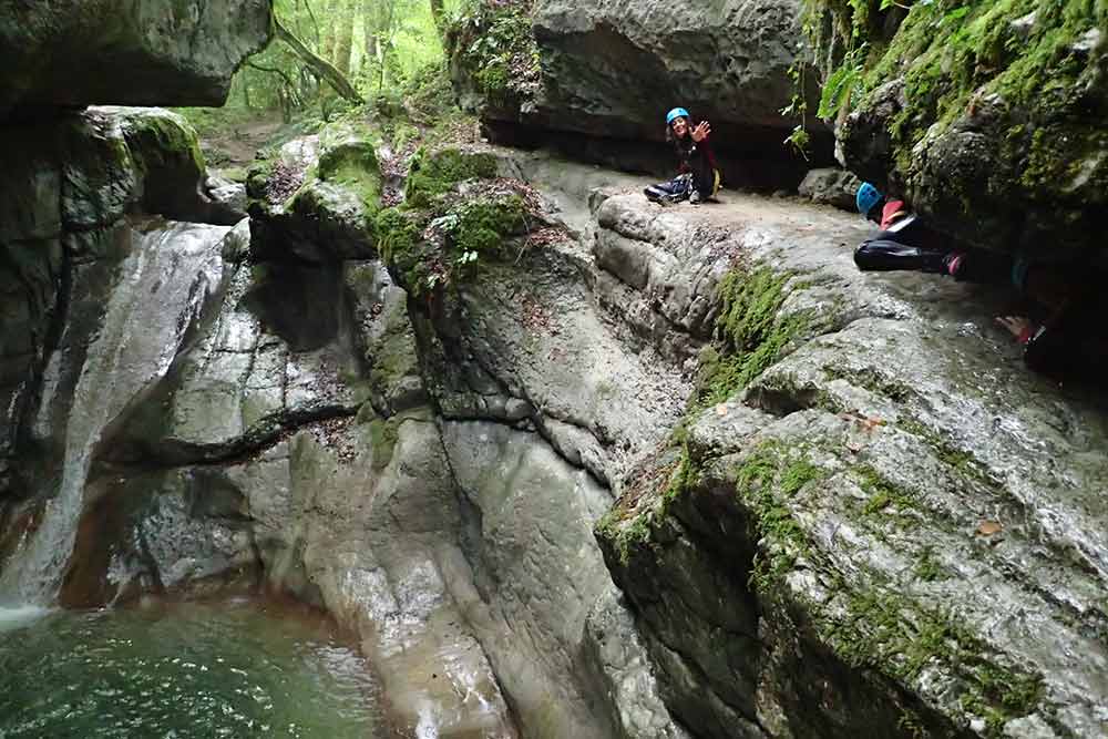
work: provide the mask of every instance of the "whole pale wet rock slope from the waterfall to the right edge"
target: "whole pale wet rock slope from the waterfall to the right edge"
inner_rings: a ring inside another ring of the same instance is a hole
[[[423,160],[429,211],[389,240],[316,244],[329,206],[286,217],[286,177],[327,151],[256,174],[280,217],[220,228],[222,290],[103,427],[63,601],[290,593],[357,632],[413,732],[1104,732],[1106,415],[1023,368],[1007,296],[859,274],[871,230],[829,207],[663,208],[495,148],[461,182]],[[420,259],[465,254],[437,214],[505,193],[541,218],[429,285]]]

